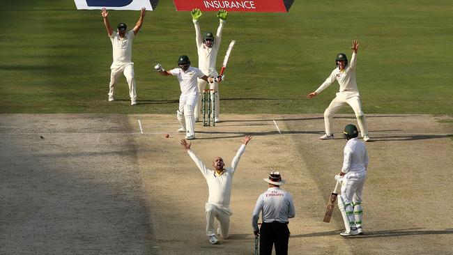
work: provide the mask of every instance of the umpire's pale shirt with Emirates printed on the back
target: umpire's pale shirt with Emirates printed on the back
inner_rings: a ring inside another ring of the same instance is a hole
[[[256,200],[252,214],[252,226],[258,231],[259,212],[263,222],[289,222],[295,216],[293,198],[289,192],[279,187],[270,187]]]

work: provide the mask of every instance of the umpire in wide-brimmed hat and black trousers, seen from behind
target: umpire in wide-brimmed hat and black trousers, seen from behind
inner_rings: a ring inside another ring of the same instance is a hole
[[[295,216],[293,198],[289,192],[280,189],[285,183],[278,171],[271,171],[269,178],[263,179],[269,183],[269,188],[256,201],[252,215],[253,233],[261,238],[259,250],[261,255],[272,254],[275,245],[275,254],[288,254],[289,218]],[[263,223],[258,229],[259,213]]]

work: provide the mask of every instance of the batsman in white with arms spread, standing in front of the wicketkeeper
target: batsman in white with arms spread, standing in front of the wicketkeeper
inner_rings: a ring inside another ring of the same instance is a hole
[[[174,75],[178,77],[181,95],[179,96],[179,107],[176,111],[176,116],[182,126],[178,129],[178,132],[185,132],[185,139],[191,140],[195,139],[194,106],[197,104],[197,100],[199,98],[197,78],[213,83],[222,81],[222,77],[208,77],[204,75],[204,73],[198,68],[190,66],[189,57],[185,55],[179,56],[178,66],[179,68],[167,71],[162,68],[160,63],[158,63],[154,68],[160,73],[160,75]]]

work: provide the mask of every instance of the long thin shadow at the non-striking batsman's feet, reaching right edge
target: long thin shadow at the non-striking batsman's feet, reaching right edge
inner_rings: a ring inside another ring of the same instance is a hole
[[[445,230],[422,230],[422,229],[424,229],[424,228],[369,231],[369,232],[365,232],[364,235],[354,235],[354,236],[351,236],[349,238],[387,238],[387,237],[405,236],[405,235],[445,235],[445,234],[453,234],[453,229],[445,229]],[[327,236],[327,235],[339,235],[339,233],[341,231],[344,231],[344,230],[343,229],[339,229],[339,230],[336,230],[336,231],[325,231],[325,232],[317,232],[317,233],[291,235],[291,238],[312,238],[312,237]]]

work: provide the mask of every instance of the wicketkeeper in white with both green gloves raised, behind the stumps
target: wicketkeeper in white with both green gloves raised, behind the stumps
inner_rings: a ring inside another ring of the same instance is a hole
[[[195,40],[197,42],[197,52],[198,52],[198,67],[208,76],[217,77],[219,74],[215,68],[215,62],[217,60],[217,53],[219,53],[220,42],[222,40],[222,29],[224,24],[227,23],[228,12],[226,10],[219,10],[217,12],[217,17],[219,17],[220,24],[217,28],[217,34],[215,37],[213,33],[206,32],[204,37],[201,36],[199,18],[202,13],[200,9],[193,9],[192,12],[192,22],[195,26]],[[198,79],[198,91],[203,93],[206,88],[207,82],[203,79]],[[219,86],[217,82],[209,84],[209,89],[213,89],[215,93],[211,93],[212,100],[215,100],[215,112],[213,112],[215,118],[214,122],[220,122],[220,95],[219,95]],[[214,98],[215,97],[215,98]],[[201,97],[197,101],[197,106],[195,107],[195,119],[198,121],[199,116],[201,116]]]

